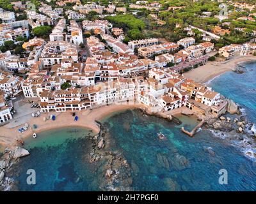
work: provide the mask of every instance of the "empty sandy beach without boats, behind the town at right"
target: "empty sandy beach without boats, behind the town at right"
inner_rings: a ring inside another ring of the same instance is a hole
[[[231,71],[239,62],[256,61],[255,56],[239,56],[225,62],[207,62],[204,66],[184,73],[185,77],[191,78],[198,83],[205,83],[212,78],[218,77],[221,74]]]

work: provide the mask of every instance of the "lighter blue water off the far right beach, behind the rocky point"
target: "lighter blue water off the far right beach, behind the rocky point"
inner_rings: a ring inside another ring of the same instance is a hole
[[[212,80],[209,86],[239,103],[248,119],[256,122],[256,62],[246,62],[242,65],[246,67],[243,74],[229,71]]]

